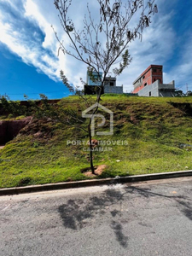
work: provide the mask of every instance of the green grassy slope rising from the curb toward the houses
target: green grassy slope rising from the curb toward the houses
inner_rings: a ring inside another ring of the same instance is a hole
[[[79,98],[73,96],[61,105],[77,102]],[[102,96],[101,103],[114,113],[114,134],[95,138],[128,142],[94,154],[95,165],[108,166],[101,177],[192,169],[192,147],[182,147],[192,145],[192,97]],[[42,136],[35,137],[38,130]],[[89,166],[89,155],[84,146],[67,146],[67,140],[74,139],[86,141],[87,137],[73,127],[36,122],[30,132],[0,151],[0,187],[87,178],[80,170]]]

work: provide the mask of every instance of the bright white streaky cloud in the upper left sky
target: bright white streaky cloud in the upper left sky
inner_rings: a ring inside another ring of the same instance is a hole
[[[0,9],[0,42],[19,55],[26,64],[33,65],[38,72],[58,81],[60,70],[67,70],[66,58],[57,57],[59,44],[49,21],[41,15],[32,0],[24,1],[20,15],[13,3],[10,2],[9,6],[5,7]],[[14,12],[14,15],[9,10]]]

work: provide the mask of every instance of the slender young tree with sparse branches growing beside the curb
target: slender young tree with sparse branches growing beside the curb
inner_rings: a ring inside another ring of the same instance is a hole
[[[97,79],[101,86],[96,92],[96,103],[100,102],[104,81],[113,73],[121,74],[131,62],[128,45],[139,38],[142,40],[144,28],[151,23],[151,15],[157,13],[157,5],[154,0],[96,0],[98,13],[96,20],[87,3],[87,13],[84,15],[83,29],[79,31],[73,23],[68,11],[73,0],[55,0],[55,8],[59,11],[59,18],[63,31],[67,34],[71,44],[67,49],[61,42],[57,33],[55,37],[60,43],[59,50],[63,54],[71,55],[78,61],[82,61],[88,68],[91,79]],[[145,2],[147,2],[145,4]],[[119,65],[117,67],[117,64]],[[112,69],[112,67],[114,67]],[[100,73],[102,72],[102,77]],[[97,74],[97,78],[94,77]],[[65,84],[67,79],[61,72],[61,79]],[[68,85],[67,85],[68,86]],[[97,112],[98,104],[92,111],[92,116]],[[90,123],[88,132],[90,137],[90,167],[94,173],[92,160]]]

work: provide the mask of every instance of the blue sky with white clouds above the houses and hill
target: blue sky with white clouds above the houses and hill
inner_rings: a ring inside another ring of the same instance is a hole
[[[124,0],[125,1],[125,0]],[[64,70],[69,81],[81,85],[86,79],[83,63],[58,54],[58,43],[51,25],[63,36],[53,0],[0,0],[0,95],[21,100],[26,94],[38,98],[61,98],[68,91],[60,80]],[[82,24],[86,2],[96,11],[96,0],[73,0],[74,23]],[[191,0],[157,0],[159,12],[152,25],[143,32],[143,41],[130,44],[131,65],[117,78],[124,91],[150,64],[164,66],[164,82],[173,79],[176,87],[192,90],[192,2]]]

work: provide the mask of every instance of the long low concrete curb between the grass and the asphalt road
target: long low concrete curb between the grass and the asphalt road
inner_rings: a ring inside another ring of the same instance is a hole
[[[188,177],[192,176],[192,170],[179,171],[179,172],[163,172],[153,174],[134,175],[127,177],[115,177],[115,178],[102,178],[84,180],[78,182],[67,182],[67,183],[49,183],[44,185],[34,185],[26,187],[15,187],[10,189],[0,189],[0,195],[18,195],[22,193],[42,192],[55,189],[74,189],[90,186],[109,185],[115,183],[132,183],[142,182],[155,179],[166,179],[173,177]]]

